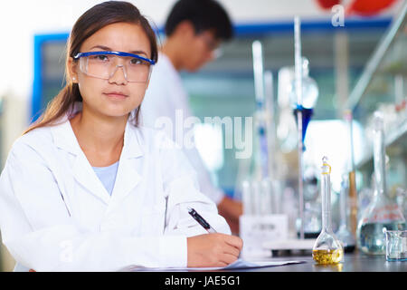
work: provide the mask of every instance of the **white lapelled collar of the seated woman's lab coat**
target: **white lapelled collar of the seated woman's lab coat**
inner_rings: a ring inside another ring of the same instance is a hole
[[[137,138],[137,129],[129,121],[127,122],[123,149],[118,162],[116,182],[110,197],[108,191],[104,188],[96,173],[91,168],[90,162],[87,160],[85,154],[80,149],[78,140],[71,128],[69,117],[70,114],[67,114],[61,124],[52,127],[52,138],[58,148],[66,150],[76,156],[72,167],[74,179],[107,205],[111,204],[112,200],[118,201],[127,196],[141,179],[132,162],[132,159],[139,158],[143,155],[140,140]]]

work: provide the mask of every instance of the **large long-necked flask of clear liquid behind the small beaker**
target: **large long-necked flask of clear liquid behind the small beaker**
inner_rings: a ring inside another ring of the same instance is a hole
[[[357,247],[365,254],[385,255],[385,230],[402,230],[405,219],[386,190],[383,115],[374,112],[374,197],[357,225]]]

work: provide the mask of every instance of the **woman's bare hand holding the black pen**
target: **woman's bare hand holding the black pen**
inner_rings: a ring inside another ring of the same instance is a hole
[[[204,234],[187,238],[188,266],[228,266],[241,253],[240,237],[225,234]]]

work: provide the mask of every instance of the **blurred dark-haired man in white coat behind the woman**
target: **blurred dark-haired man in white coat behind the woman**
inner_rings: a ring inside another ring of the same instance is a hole
[[[166,40],[141,106],[142,124],[151,128],[155,128],[156,120],[160,117],[169,118],[175,127],[176,114],[182,115],[184,120],[192,115],[179,72],[185,70],[193,73],[205,63],[213,61],[215,50],[222,42],[232,39],[233,34],[228,14],[214,0],[176,2],[166,19],[165,33]],[[179,144],[175,131],[170,137]],[[213,186],[209,172],[195,148],[179,145],[197,173],[201,191],[216,203],[232,233],[238,234],[241,202],[229,198],[221,189]]]

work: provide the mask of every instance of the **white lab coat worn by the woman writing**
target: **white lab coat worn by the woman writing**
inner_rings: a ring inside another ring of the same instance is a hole
[[[18,264],[36,271],[186,266],[186,237],[206,233],[188,206],[230,234],[163,133],[128,122],[110,197],[67,120],[16,140],[1,174],[1,234]]]

